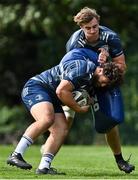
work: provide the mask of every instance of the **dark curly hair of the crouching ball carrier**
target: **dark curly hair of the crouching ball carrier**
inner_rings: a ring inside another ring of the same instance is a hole
[[[108,87],[116,87],[123,83],[123,74],[115,62],[108,62],[101,65],[103,74],[108,77]]]

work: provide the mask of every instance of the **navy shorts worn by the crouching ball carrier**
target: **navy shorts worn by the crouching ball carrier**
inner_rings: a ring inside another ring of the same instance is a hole
[[[28,110],[39,102],[50,102],[53,104],[55,113],[63,113],[60,100],[51,90],[44,87],[40,82],[30,79],[23,87],[22,100]]]

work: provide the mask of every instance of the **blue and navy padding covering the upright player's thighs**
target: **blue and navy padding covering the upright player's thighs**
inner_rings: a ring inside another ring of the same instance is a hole
[[[95,129],[99,133],[106,133],[114,126],[124,122],[124,105],[118,87],[96,92],[92,109],[95,117]]]

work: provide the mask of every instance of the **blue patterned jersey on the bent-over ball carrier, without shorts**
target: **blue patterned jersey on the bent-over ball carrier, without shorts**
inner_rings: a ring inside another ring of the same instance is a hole
[[[68,52],[61,62],[39,75],[31,78],[41,82],[53,93],[61,80],[68,80],[72,83],[74,90],[89,86],[96,68],[98,55],[87,48],[77,48]],[[98,63],[97,63],[98,64]]]

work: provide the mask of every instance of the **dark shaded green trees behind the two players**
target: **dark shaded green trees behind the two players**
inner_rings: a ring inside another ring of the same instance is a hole
[[[0,143],[16,143],[32,118],[20,92],[36,73],[48,69],[65,54],[65,44],[78,29],[73,16],[95,8],[101,25],[116,31],[126,54],[122,87],[125,123],[122,144],[138,144],[138,3],[136,0],[0,0]],[[39,138],[37,143],[43,141]],[[77,115],[66,144],[100,144],[91,113]]]

